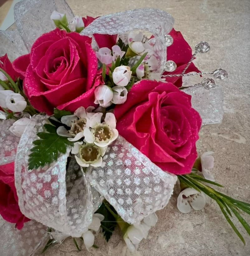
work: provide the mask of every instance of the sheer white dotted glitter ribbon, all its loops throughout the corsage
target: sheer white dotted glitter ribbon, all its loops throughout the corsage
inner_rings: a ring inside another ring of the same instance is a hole
[[[27,53],[37,37],[54,28],[49,18],[54,9],[66,13],[69,20],[73,17],[64,0],[23,0],[18,3],[15,6],[17,30],[0,32],[1,53],[7,53],[12,60]],[[164,11],[137,9],[102,16],[82,34],[91,37],[94,33],[119,34],[126,39],[131,30],[150,32],[155,37],[154,49],[160,60],[157,71],[161,72],[166,61],[164,35],[171,31],[173,23],[174,19]],[[191,93],[195,97],[195,92]],[[200,94],[197,97],[199,100]],[[202,101],[209,104],[206,98]],[[221,98],[218,101],[220,104]],[[214,112],[211,111],[205,111],[203,118],[207,116],[209,121],[213,120]],[[33,219],[25,223],[21,231],[1,220],[0,225],[5,230],[0,236],[4,255],[33,255],[49,237],[46,226],[69,236],[81,236],[104,197],[128,223],[136,223],[166,206],[177,177],[163,172],[120,136],[109,146],[103,158],[105,166],[89,168],[86,174],[75,161],[70,161],[66,172],[70,149],[50,166],[28,170],[32,142],[44,122],[46,116],[33,117],[20,142],[8,130],[13,120],[0,122],[0,165],[15,159],[19,206],[25,216]]]

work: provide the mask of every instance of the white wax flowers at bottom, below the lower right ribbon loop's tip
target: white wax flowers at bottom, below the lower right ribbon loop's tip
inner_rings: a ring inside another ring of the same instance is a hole
[[[151,213],[149,216],[144,218],[142,222],[134,225],[130,225],[127,228],[123,239],[130,252],[135,252],[138,248],[139,243],[143,238],[147,238],[148,231],[151,227],[156,225],[158,218],[155,213]]]

